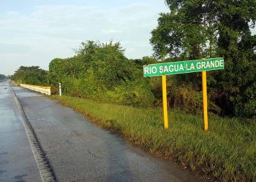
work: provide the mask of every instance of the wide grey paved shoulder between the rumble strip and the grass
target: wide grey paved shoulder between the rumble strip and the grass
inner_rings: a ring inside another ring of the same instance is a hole
[[[41,94],[13,87],[57,181],[201,181]]]

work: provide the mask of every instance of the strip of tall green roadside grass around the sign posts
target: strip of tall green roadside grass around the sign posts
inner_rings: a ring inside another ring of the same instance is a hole
[[[162,110],[135,108],[95,100],[52,96],[89,116],[102,127],[118,130],[124,138],[159,157],[176,159],[193,173],[217,181],[256,181],[256,122],[209,117],[203,132],[201,116],[169,112],[163,129]]]

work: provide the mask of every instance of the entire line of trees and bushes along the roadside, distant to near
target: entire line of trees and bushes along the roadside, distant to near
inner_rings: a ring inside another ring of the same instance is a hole
[[[166,0],[151,31],[153,57],[129,59],[119,42],[86,41],[72,58],[55,58],[49,72],[20,67],[12,79],[30,84],[62,83],[66,94],[133,106],[161,106],[161,77],[143,78],[143,65],[219,58],[223,71],[208,71],[209,110],[222,116],[256,116],[256,1]],[[28,72],[29,71],[29,72]],[[167,76],[169,105],[202,108],[200,73]]]

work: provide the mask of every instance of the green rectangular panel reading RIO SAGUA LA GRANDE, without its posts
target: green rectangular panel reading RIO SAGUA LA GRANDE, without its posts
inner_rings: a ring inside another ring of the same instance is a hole
[[[223,58],[205,60],[187,60],[171,63],[158,63],[143,66],[143,74],[147,76],[162,76],[168,74],[187,74],[199,71],[224,69]]]

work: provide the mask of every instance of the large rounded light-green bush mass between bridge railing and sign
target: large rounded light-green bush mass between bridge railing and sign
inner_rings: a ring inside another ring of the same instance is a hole
[[[124,56],[119,43],[82,43],[76,55],[53,59],[49,65],[50,82],[69,95],[97,98],[134,106],[153,106],[154,95],[142,66]]]

